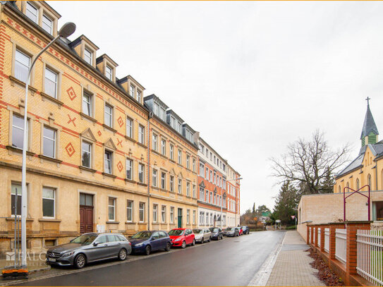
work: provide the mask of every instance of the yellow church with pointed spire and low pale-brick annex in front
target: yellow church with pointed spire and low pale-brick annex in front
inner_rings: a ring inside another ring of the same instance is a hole
[[[367,112],[360,136],[358,157],[337,174],[334,193],[303,195],[298,205],[298,231],[306,237],[306,223],[327,224],[344,220],[344,191],[346,196],[346,220],[374,221],[372,228],[383,228],[383,141],[378,141],[378,130],[367,104]],[[370,211],[367,197],[370,187]]]

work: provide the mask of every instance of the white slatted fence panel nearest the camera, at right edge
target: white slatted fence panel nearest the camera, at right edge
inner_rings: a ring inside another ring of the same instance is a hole
[[[357,273],[364,279],[383,286],[383,231],[358,230]]]

